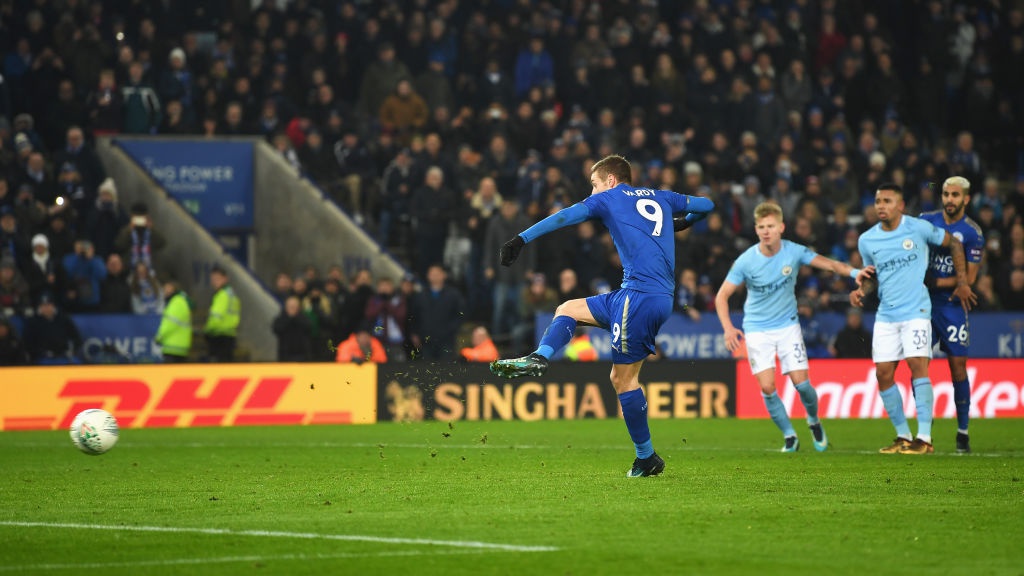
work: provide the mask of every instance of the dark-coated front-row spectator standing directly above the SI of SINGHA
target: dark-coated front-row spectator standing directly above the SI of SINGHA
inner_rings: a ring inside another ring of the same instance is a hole
[[[455,337],[465,314],[462,294],[449,286],[447,272],[439,264],[427,269],[427,286],[414,296],[410,333],[413,359],[452,360]]]

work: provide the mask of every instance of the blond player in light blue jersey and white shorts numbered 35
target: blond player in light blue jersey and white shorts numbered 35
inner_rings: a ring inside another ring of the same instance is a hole
[[[754,209],[754,222],[760,242],[736,258],[715,296],[725,346],[735,352],[740,346],[739,338],[746,340],[751,372],[761,386],[768,415],[782,431],[782,452],[796,452],[800,440],[775,389],[775,357],[778,357],[782,374],[790,376],[807,410],[814,449],[822,452],[828,448],[828,438],[818,418],[818,394],[808,378],[807,347],[797,316],[797,276],[801,265],[810,265],[849,276],[859,285],[870,271],[857,270],[817,254],[807,246],[782,240],[785,231],[782,208],[774,202],[759,204]],[[742,331],[729,319],[729,297],[740,284],[746,285]]]

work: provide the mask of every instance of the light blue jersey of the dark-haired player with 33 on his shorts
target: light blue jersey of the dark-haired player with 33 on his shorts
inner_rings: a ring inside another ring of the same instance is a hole
[[[942,245],[946,232],[931,222],[903,214],[896,230],[886,232],[877,223],[860,235],[857,247],[865,265],[873,265],[879,279],[879,313],[882,322],[903,322],[932,317],[932,300],[925,287],[928,245]]]

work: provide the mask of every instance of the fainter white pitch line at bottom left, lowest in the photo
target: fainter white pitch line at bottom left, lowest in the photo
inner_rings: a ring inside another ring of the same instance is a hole
[[[197,566],[205,564],[237,564],[280,561],[317,561],[356,558],[401,558],[421,556],[476,554],[480,550],[404,550],[391,552],[339,552],[334,554],[280,554],[280,556],[236,556],[213,558],[176,558],[167,560],[140,560],[137,562],[83,562],[78,564],[25,564],[20,566],[0,566],[0,572],[29,572],[38,570],[81,570],[104,568],[134,568],[146,566]]]

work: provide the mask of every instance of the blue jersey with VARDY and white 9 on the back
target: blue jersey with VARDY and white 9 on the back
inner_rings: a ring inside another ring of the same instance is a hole
[[[707,199],[668,190],[618,184],[582,202],[591,218],[598,218],[611,233],[623,261],[623,288],[672,295],[676,289],[676,239],[672,215],[685,212],[690,203],[710,211]],[[697,202],[700,201],[700,202]]]

